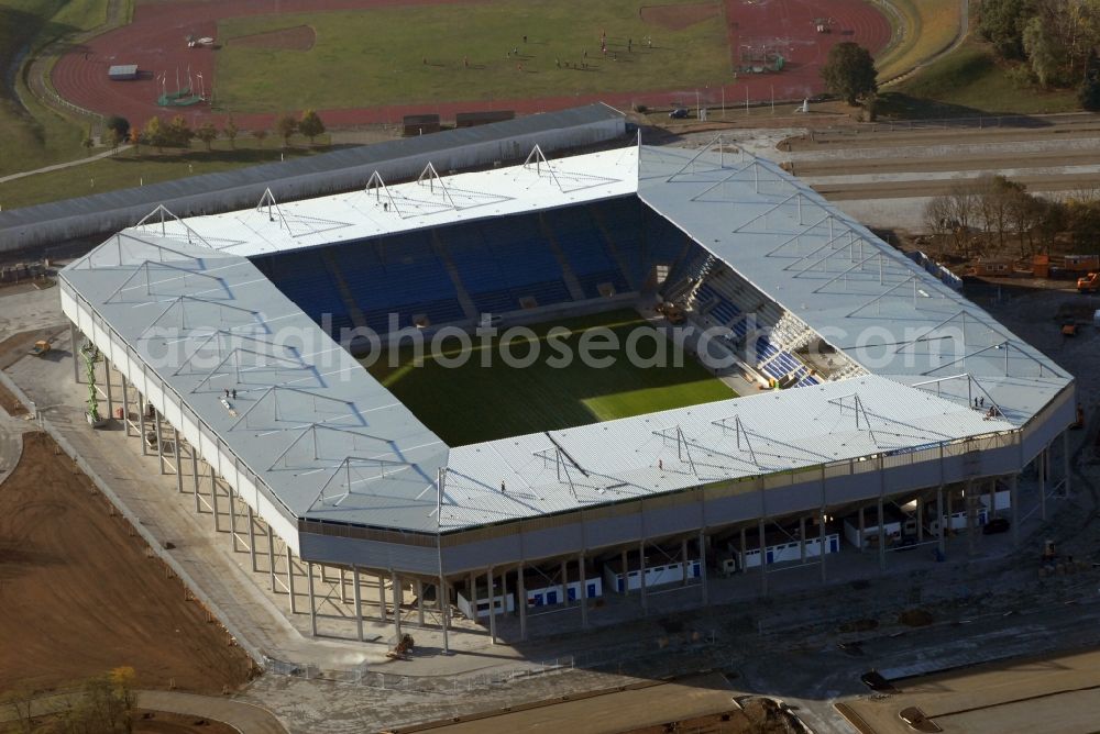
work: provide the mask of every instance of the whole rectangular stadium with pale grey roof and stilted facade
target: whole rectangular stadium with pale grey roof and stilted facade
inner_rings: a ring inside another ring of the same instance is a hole
[[[75,378],[315,635],[447,649],[461,614],[526,640],[540,608],[588,626],[670,585],[706,604],[727,571],[825,580],[854,534],[883,568],[910,536],[943,554],[998,512],[1019,531],[1025,470],[1045,512],[1075,418],[1070,375],[721,138],[161,208],[59,281]],[[480,359],[553,326],[672,357]]]

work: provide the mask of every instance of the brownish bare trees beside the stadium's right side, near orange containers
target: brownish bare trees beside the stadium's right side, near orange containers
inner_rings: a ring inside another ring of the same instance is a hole
[[[942,254],[960,258],[1100,252],[1100,188],[1044,199],[1004,176],[982,176],[931,199],[924,218]]]

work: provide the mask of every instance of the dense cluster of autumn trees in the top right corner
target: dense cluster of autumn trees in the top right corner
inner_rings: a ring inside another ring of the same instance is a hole
[[[1100,0],[982,0],[978,30],[1001,58],[1043,87],[1097,85]],[[1097,99],[1100,103],[1100,99]]]

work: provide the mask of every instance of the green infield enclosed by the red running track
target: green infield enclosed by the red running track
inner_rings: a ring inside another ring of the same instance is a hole
[[[660,4],[681,2],[697,0]],[[721,14],[671,31],[642,21],[645,4],[652,3],[503,0],[229,19],[218,29],[226,44],[218,52],[218,103],[238,112],[275,112],[288,105],[342,108],[350,100],[372,105],[693,89],[729,77]],[[309,51],[233,43],[300,25],[316,32]],[[603,31],[606,56],[600,48]],[[647,35],[652,36],[652,48],[642,44]],[[634,41],[631,53],[628,38]],[[513,48],[519,49],[518,58],[508,56]],[[564,68],[565,62],[582,65],[584,51],[587,70]]]

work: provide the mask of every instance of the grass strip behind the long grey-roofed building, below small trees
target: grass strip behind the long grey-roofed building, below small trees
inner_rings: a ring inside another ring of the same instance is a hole
[[[261,147],[250,137],[239,138],[235,151],[230,149],[228,141],[216,141],[209,152],[204,147],[158,153],[156,148],[142,146],[139,155],[131,148],[114,157],[0,184],[0,207],[30,207],[326,152],[304,147],[283,151],[277,147],[279,144],[268,140]]]

